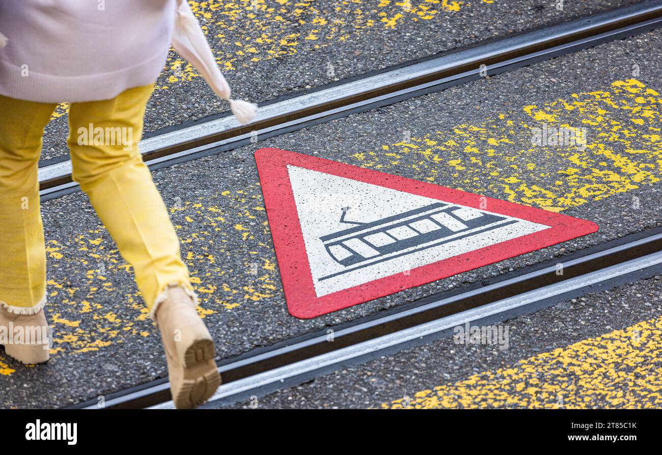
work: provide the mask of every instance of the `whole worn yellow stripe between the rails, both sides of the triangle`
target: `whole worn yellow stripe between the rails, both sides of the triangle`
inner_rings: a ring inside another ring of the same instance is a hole
[[[445,183],[451,187],[563,211],[659,181],[660,103],[657,92],[643,83],[616,81],[600,91],[522,107],[478,125],[458,125],[449,132],[384,144],[381,150],[357,150],[344,162],[393,174],[402,174],[407,166],[406,174],[415,179],[439,183],[451,177]],[[626,113],[628,119],[616,117],[619,113]],[[585,149],[532,146],[530,128],[540,125],[538,119],[556,126],[590,125]],[[518,146],[522,140],[525,146]],[[616,152],[616,148],[625,151]],[[544,159],[533,160],[540,154]],[[201,315],[236,311],[246,303],[279,295],[269,227],[266,221],[258,221],[264,219],[258,181],[240,190],[220,188],[178,207],[171,214],[181,220],[175,229],[200,295]],[[195,226],[195,231],[185,226]],[[48,313],[56,315],[54,355],[98,350],[148,336],[143,322],[148,315],[140,293],[115,289],[117,278],[130,278],[132,271],[115,244],[103,240],[103,232],[99,227],[81,232],[67,244],[47,242],[50,267],[66,270],[64,276],[71,282],[85,283],[75,287],[48,282]],[[241,270],[231,270],[225,258],[240,254],[237,244],[245,246],[246,258]],[[126,307],[138,316],[118,317]]]

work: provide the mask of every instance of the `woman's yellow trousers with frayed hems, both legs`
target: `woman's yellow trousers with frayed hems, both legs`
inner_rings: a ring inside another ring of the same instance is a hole
[[[138,142],[152,85],[69,110],[73,179],[87,193],[135,272],[150,315],[179,284],[193,293],[179,239]],[[46,303],[46,248],[37,168],[44,126],[56,108],[0,95],[0,304],[32,314]],[[72,217],[75,213],[71,212]]]

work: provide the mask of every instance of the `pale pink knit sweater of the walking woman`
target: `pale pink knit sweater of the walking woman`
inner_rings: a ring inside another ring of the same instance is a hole
[[[97,101],[148,85],[164,68],[175,0],[0,0],[0,94]]]

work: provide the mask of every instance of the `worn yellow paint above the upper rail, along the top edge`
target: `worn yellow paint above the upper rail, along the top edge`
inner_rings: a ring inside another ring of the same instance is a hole
[[[338,46],[371,30],[397,30],[404,23],[430,21],[443,13],[456,13],[465,3],[453,0],[341,0],[325,9],[325,5],[316,0],[279,0],[276,3],[266,0],[229,3],[189,0],[205,34],[212,39],[218,64],[226,72],[237,66],[250,67],[261,60],[297,54],[302,41],[314,41],[316,49]],[[302,35],[291,32],[293,25],[314,28]],[[218,30],[213,36],[212,29]],[[168,89],[180,80],[200,76],[193,66],[177,56],[169,57],[166,71],[170,73],[167,77],[169,85],[157,87],[159,89]]]

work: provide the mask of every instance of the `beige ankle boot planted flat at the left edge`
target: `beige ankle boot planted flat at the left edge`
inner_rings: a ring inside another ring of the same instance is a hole
[[[17,315],[0,305],[0,344],[8,356],[24,364],[47,362],[50,346],[44,309],[34,315]]]

